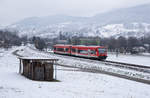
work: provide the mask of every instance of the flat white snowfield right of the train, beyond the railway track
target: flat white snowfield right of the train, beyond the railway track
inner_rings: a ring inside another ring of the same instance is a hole
[[[138,56],[129,54],[118,54],[118,56],[116,56],[115,53],[109,53],[107,60],[150,66],[150,56]]]

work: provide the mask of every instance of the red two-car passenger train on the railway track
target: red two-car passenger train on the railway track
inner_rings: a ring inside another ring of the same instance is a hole
[[[105,60],[107,49],[104,46],[83,46],[83,45],[54,45],[54,53],[95,58]]]

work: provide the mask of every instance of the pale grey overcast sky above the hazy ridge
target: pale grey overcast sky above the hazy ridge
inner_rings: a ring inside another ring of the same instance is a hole
[[[144,3],[150,3],[150,0],[0,0],[0,25],[33,16],[63,14],[88,17]]]

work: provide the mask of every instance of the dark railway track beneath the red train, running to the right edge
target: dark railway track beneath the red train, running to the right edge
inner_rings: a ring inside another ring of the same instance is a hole
[[[33,49],[32,47],[29,47],[31,49]],[[38,51],[36,49],[33,49],[35,51]],[[137,64],[130,64],[130,63],[123,63],[123,62],[116,62],[116,61],[108,61],[108,60],[104,60],[104,61],[99,61],[99,60],[93,60],[93,59],[88,59],[88,58],[82,58],[82,57],[74,57],[74,56],[67,56],[67,55],[59,55],[59,54],[54,54],[52,52],[45,52],[46,54],[51,54],[54,56],[58,56],[58,57],[69,57],[72,59],[76,59],[79,61],[85,61],[85,62],[89,62],[89,63],[96,63],[96,64],[105,64],[107,66],[113,66],[113,67],[118,67],[118,68],[125,68],[125,69],[130,69],[130,70],[135,70],[135,71],[139,71],[139,72],[144,72],[144,73],[150,73],[150,66],[145,66],[145,65],[137,65]]]

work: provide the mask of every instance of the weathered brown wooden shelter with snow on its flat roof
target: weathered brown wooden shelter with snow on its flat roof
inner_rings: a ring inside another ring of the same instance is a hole
[[[54,63],[58,59],[20,57],[19,73],[32,80],[54,80]]]

